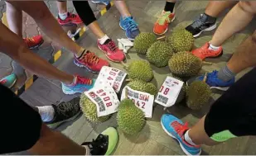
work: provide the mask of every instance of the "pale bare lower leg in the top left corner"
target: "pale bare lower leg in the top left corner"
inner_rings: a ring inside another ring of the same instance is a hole
[[[7,21],[12,32],[22,38],[22,10],[17,9],[10,3],[7,4]]]

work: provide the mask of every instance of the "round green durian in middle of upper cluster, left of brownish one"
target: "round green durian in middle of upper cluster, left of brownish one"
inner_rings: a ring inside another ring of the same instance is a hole
[[[147,60],[158,68],[168,65],[169,59],[173,54],[170,44],[165,41],[157,40],[147,50]]]

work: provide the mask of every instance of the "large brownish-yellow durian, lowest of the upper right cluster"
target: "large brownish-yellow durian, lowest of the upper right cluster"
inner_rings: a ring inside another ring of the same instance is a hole
[[[202,64],[202,60],[195,55],[182,51],[172,55],[169,60],[169,69],[178,77],[191,77],[200,72]]]

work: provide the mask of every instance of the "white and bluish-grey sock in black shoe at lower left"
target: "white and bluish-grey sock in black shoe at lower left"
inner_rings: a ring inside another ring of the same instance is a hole
[[[38,108],[41,120],[44,122],[52,121],[54,118],[54,108],[52,106],[36,106]]]

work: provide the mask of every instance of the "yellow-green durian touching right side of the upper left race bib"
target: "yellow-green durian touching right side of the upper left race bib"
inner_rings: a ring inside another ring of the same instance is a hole
[[[145,82],[150,82],[154,77],[150,63],[147,60],[133,60],[128,64],[128,77],[131,79],[140,79]]]

